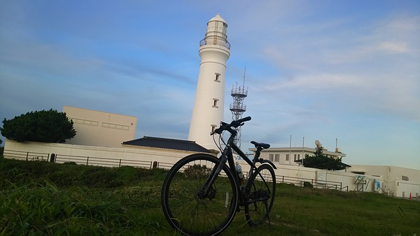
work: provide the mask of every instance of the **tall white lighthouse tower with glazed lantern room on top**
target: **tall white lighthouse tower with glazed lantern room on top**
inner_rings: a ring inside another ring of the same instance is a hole
[[[226,61],[230,56],[227,29],[221,15],[211,18],[198,50],[201,63],[188,140],[207,149],[217,150],[210,133],[223,120]]]

